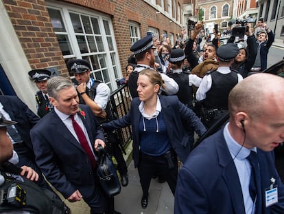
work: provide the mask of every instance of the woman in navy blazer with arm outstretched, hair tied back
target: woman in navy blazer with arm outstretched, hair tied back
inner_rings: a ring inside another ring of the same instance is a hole
[[[134,166],[138,167],[143,190],[141,206],[146,208],[154,173],[165,178],[174,194],[178,175],[176,155],[184,162],[190,152],[187,129],[194,127],[201,136],[206,128],[177,96],[158,95],[161,87],[165,87],[158,72],[144,69],[137,85],[139,98],[132,100],[129,113],[102,127],[111,130],[132,125]]]

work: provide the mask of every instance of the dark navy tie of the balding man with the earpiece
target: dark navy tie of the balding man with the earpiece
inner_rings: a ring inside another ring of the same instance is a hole
[[[247,157],[252,166],[252,173],[250,175],[250,197],[252,201],[255,202],[255,197],[257,201],[255,202],[255,213],[261,213],[261,174],[259,169],[259,159],[257,158],[257,153],[255,151],[250,151],[250,155]]]

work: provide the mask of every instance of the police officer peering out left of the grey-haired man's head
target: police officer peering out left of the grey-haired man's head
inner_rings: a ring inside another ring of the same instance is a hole
[[[32,69],[28,74],[39,89],[35,95],[36,109],[38,110],[38,116],[43,118],[49,111],[54,109],[54,106],[49,102],[49,96],[47,94],[47,81],[51,76],[51,72],[47,69]]]

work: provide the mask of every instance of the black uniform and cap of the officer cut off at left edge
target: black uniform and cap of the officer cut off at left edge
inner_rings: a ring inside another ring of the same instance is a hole
[[[16,123],[0,117],[0,127]],[[10,162],[1,163],[0,213],[65,213],[65,204],[54,193],[19,175],[21,171],[20,167]]]

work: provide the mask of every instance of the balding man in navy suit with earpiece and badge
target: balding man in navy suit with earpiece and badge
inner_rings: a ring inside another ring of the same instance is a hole
[[[283,213],[273,152],[284,141],[283,90],[284,79],[272,74],[253,74],[232,89],[228,124],[180,169],[174,213]]]

